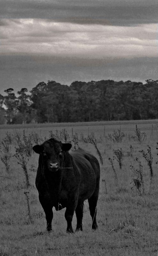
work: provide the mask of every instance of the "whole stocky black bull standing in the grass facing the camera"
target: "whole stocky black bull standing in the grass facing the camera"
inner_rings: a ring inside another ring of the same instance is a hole
[[[67,232],[72,233],[72,218],[77,217],[76,230],[82,230],[83,204],[88,199],[92,228],[97,228],[96,205],[99,194],[100,166],[98,160],[82,149],[72,151],[70,143],[55,139],[36,145],[40,154],[36,176],[36,188],[44,209],[47,230],[52,230],[53,206],[56,211],[66,207]]]

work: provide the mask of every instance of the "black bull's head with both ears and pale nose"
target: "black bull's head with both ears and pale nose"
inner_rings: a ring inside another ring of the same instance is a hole
[[[34,152],[40,154],[42,163],[49,171],[56,172],[64,161],[64,152],[71,148],[70,143],[62,143],[55,139],[46,140],[41,145],[33,147]]]

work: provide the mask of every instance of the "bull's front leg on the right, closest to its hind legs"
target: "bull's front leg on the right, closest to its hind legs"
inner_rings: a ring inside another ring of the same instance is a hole
[[[72,218],[77,207],[77,200],[69,201],[65,211],[65,219],[67,221],[67,233],[73,233]]]

